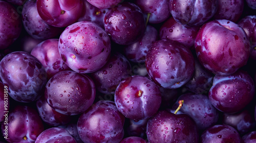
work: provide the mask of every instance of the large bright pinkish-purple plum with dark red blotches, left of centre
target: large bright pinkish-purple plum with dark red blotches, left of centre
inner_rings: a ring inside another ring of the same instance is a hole
[[[68,26],[59,37],[62,60],[78,73],[93,73],[105,65],[111,41],[96,23],[79,21]]]

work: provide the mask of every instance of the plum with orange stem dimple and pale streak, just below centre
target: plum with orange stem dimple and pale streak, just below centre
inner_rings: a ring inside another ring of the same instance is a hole
[[[150,79],[132,76],[117,86],[115,103],[125,117],[138,121],[150,118],[158,111],[161,105],[161,92]]]

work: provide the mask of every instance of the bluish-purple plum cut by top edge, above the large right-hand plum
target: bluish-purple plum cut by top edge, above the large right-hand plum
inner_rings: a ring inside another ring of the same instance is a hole
[[[203,25],[218,9],[219,0],[170,0],[170,14],[174,19],[189,27]]]

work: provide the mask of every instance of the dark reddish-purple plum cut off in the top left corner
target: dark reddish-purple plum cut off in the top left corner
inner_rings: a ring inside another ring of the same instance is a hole
[[[0,50],[10,46],[22,31],[22,18],[14,6],[0,1]]]

